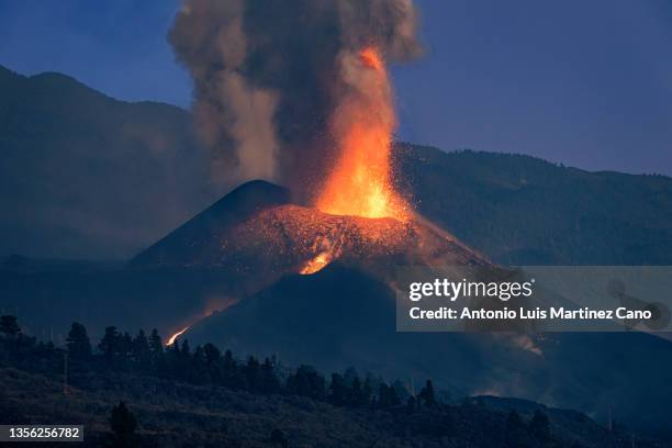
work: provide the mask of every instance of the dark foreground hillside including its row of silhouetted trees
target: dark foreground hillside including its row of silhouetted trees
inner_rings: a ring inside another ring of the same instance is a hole
[[[405,447],[424,440],[428,446],[534,448],[586,439],[592,443],[579,446],[629,443],[587,417],[571,426],[562,418],[551,423],[540,408],[523,417],[471,402],[444,403],[430,380],[413,396],[400,382],[362,378],[351,368],[327,381],[310,366],[287,369],[272,358],[238,360],[212,344],[192,349],[182,340],[164,347],[156,331],[149,337],[143,331],[132,336],[110,326],[93,350],[78,323],[66,347],[57,348],[22,335],[12,316],[0,322],[0,380],[7,385],[0,415],[18,419],[3,423],[53,423],[83,406],[76,422],[86,422],[88,446]],[[64,362],[69,362],[66,378]],[[72,389],[55,392],[53,381],[66,381]],[[75,393],[76,399],[68,397]],[[111,408],[105,411],[101,402]],[[131,407],[139,410],[138,416]],[[43,419],[35,421],[35,415]],[[232,425],[244,429],[234,435]]]

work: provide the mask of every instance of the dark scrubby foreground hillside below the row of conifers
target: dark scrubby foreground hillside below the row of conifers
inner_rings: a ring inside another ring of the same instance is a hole
[[[10,416],[7,423],[16,424],[60,419],[83,424],[85,441],[77,444],[83,447],[107,445],[109,415],[122,400],[137,418],[143,446],[149,447],[279,447],[270,441],[270,435],[281,429],[289,446],[301,448],[493,448],[503,446],[509,407],[509,403],[480,400],[474,401],[478,405],[466,403],[408,414],[404,406],[389,411],[336,407],[304,396],[260,395],[113,370],[94,376],[78,373],[75,370],[76,385],[64,395],[57,376],[0,368],[0,381],[7,385],[0,415]],[[531,445],[535,448],[630,447],[627,434],[608,433],[576,412],[526,403],[519,412],[523,422],[530,422],[537,408],[548,415],[555,441]],[[640,439],[637,443],[641,448],[664,446]]]

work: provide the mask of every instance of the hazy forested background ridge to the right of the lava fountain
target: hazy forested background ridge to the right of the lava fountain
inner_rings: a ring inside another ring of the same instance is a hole
[[[497,262],[672,262],[671,178],[412,145],[397,170],[421,213]]]

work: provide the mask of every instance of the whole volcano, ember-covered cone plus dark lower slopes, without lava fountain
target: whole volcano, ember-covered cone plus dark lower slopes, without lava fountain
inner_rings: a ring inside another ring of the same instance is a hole
[[[288,367],[354,366],[407,383],[433,378],[457,396],[527,397],[662,427],[660,415],[672,405],[668,341],[646,334],[399,333],[390,279],[402,264],[492,266],[419,216],[324,213],[264,181],[240,186],[131,262],[149,271],[217,268],[220,289],[237,303],[184,322],[180,338],[191,345],[275,354]],[[637,415],[632,403],[642,403]]]

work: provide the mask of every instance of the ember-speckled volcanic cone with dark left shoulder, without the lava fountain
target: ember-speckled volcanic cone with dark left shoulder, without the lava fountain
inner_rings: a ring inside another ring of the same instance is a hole
[[[270,280],[314,273],[333,261],[382,277],[406,265],[490,264],[421,216],[335,215],[291,198],[272,183],[247,182],[137,255],[132,265],[225,266]]]

